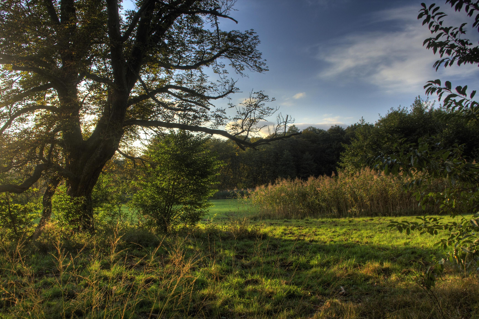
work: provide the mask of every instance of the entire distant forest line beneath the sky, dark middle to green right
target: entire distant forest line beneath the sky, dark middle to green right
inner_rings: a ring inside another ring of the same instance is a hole
[[[364,161],[377,154],[390,154],[393,145],[418,143],[430,136],[445,147],[457,144],[470,160],[479,160],[479,125],[420,97],[409,108],[391,109],[376,123],[359,121],[346,128],[335,125],[328,130],[308,127],[301,135],[242,151],[233,141],[211,139],[210,149],[224,165],[219,178],[220,190],[253,188],[277,178],[303,178],[336,174],[338,169],[354,172]],[[288,132],[299,132],[292,125]],[[252,139],[254,141],[254,139]]]

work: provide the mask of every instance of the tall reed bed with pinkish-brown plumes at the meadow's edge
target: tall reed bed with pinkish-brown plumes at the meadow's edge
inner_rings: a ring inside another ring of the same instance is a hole
[[[403,191],[403,180],[365,169],[308,180],[278,179],[256,187],[250,198],[260,217],[273,219],[421,215],[424,211],[412,193]],[[439,207],[429,206],[426,212],[438,213]]]

